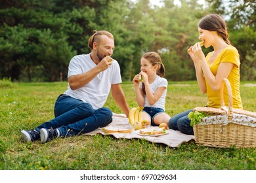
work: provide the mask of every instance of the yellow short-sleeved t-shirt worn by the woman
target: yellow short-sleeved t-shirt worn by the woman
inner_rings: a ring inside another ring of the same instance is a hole
[[[234,46],[228,45],[223,51],[217,56],[213,63],[209,63],[209,58],[211,57],[213,52],[210,52],[206,56],[207,64],[211,70],[211,73],[216,76],[217,70],[220,63],[234,63],[230,74],[228,75],[228,81],[230,82],[232,88],[232,95],[233,95],[233,107],[234,108],[243,108],[242,106],[242,99],[240,96],[240,58],[238,54],[238,50]],[[220,99],[220,91],[213,92],[211,87],[209,86],[207,80],[205,80],[206,87],[207,87],[207,97],[208,103],[207,107],[221,107],[221,99]],[[224,86],[224,103],[228,106],[228,91],[226,86]]]

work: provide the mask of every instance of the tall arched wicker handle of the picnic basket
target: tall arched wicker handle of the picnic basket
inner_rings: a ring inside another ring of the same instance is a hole
[[[233,118],[233,97],[232,97],[232,89],[230,86],[230,82],[227,78],[223,78],[223,82],[221,82],[221,88],[220,88],[220,97],[221,97],[221,107],[225,106],[224,103],[224,84],[226,84],[226,88],[228,89],[228,121],[232,121]]]

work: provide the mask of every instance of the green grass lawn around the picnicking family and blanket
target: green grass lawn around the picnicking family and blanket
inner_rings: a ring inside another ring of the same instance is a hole
[[[245,110],[256,111],[256,82],[242,82]],[[131,82],[122,84],[130,107],[137,107]],[[22,141],[20,131],[54,117],[54,102],[67,82],[0,85],[0,169],[2,170],[146,170],[256,169],[255,148],[209,148],[194,141],[170,148],[144,139],[80,135],[46,144]],[[171,116],[207,102],[196,82],[169,82],[166,112]],[[110,96],[105,105],[122,113]]]

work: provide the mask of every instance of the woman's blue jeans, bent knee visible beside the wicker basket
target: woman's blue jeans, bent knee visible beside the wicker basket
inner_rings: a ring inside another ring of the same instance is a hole
[[[190,126],[190,119],[188,119],[188,113],[193,110],[186,110],[173,116],[168,123],[170,129],[179,130],[181,133],[187,135],[194,135],[193,127]]]

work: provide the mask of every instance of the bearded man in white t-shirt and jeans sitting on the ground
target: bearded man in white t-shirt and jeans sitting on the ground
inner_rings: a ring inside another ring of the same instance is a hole
[[[112,111],[103,107],[110,90],[128,117],[129,107],[121,88],[120,67],[111,56],[114,36],[108,31],[94,31],[88,41],[90,54],[74,56],[68,67],[68,90],[58,97],[55,118],[34,130],[22,130],[24,141],[42,143],[57,137],[89,133],[112,122]]]

